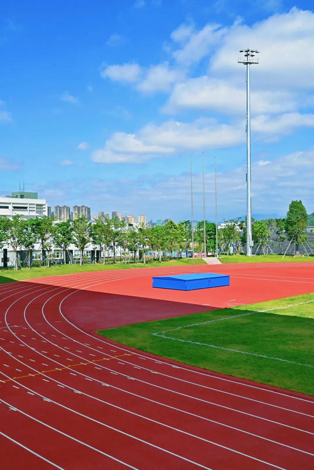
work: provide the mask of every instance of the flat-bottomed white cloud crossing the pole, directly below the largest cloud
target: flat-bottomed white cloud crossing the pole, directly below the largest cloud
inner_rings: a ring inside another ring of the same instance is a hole
[[[254,113],[279,113],[297,108],[297,102],[286,91],[252,91],[251,104]],[[243,114],[246,110],[246,90],[207,76],[190,78],[176,84],[164,112],[180,110],[216,110],[222,113]]]

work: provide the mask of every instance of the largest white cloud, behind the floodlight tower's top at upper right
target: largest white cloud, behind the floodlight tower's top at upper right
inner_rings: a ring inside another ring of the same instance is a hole
[[[254,84],[273,88],[313,86],[314,68],[309,58],[314,56],[314,12],[292,8],[251,27],[234,24],[225,30],[222,46],[213,55],[209,72],[243,77],[244,67],[237,63],[237,54],[246,46],[248,36],[250,47],[260,51],[259,64],[254,65]]]

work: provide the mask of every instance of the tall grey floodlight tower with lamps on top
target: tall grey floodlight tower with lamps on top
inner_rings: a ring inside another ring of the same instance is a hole
[[[252,212],[251,212],[251,110],[250,110],[250,64],[258,63],[256,49],[240,49],[244,58],[238,57],[238,63],[246,65],[246,254],[252,256]]]

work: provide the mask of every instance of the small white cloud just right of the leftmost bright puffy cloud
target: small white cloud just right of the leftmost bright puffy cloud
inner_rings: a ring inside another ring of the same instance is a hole
[[[143,81],[137,85],[137,89],[144,93],[167,92],[173,83],[182,80],[184,76],[185,73],[181,70],[170,70],[168,62],[152,65]]]

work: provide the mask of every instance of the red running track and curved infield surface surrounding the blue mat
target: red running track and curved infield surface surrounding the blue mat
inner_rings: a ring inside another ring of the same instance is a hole
[[[230,286],[152,289],[224,272]],[[314,263],[161,267],[0,285],[0,468],[314,469],[314,399],[93,331],[314,291]]]

